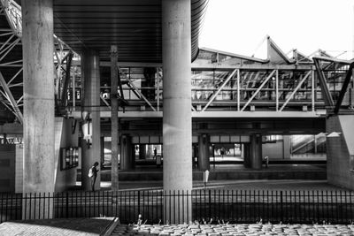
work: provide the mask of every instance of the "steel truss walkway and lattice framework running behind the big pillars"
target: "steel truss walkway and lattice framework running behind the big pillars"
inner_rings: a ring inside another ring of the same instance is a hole
[[[22,124],[20,6],[1,0],[0,14],[0,102]],[[53,37],[57,113],[81,118],[80,57]],[[353,60],[331,57],[322,50],[312,57],[293,50],[289,57],[269,36],[266,43],[267,59],[199,49],[191,71],[193,117],[316,118],[352,110]],[[102,118],[111,116],[109,67],[109,61],[101,61],[101,106],[97,111]],[[162,117],[162,64],[119,62],[118,80],[119,118]]]

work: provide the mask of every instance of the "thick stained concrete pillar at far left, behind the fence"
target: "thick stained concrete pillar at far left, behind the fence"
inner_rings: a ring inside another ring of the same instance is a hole
[[[22,1],[22,24],[23,193],[53,193],[55,172],[53,2]],[[39,209],[41,203],[42,209]],[[27,209],[23,217],[26,214],[26,217],[51,218],[53,213],[51,203],[51,201],[32,202],[31,212]]]

